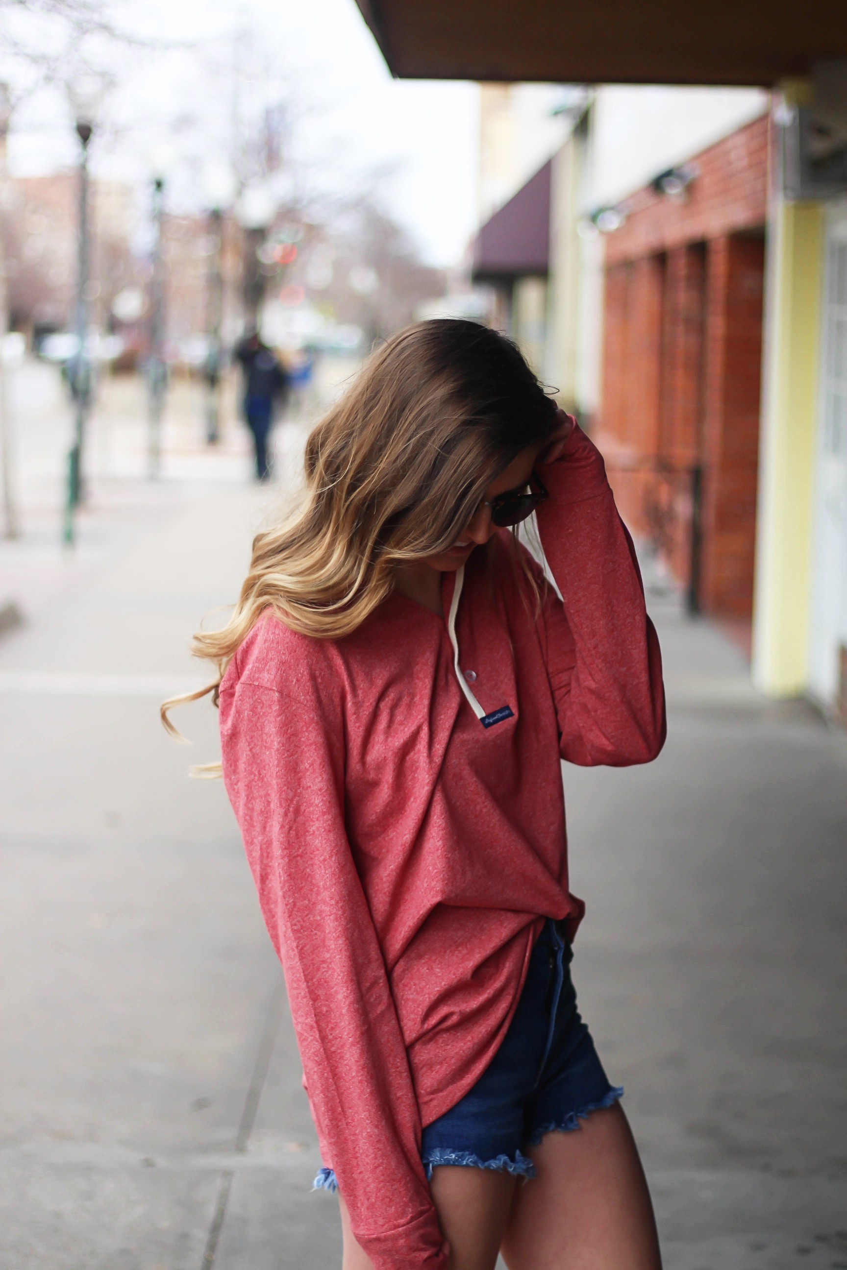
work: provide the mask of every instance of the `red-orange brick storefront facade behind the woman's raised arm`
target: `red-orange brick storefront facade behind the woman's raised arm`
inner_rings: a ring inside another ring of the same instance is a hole
[[[753,607],[768,128],[660,174],[604,235],[596,438],[618,504],[705,612],[738,618]]]

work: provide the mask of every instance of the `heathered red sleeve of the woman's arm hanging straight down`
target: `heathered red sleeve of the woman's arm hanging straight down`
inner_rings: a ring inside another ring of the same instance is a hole
[[[226,686],[225,686],[226,687]],[[291,1012],[324,1163],[376,1270],[443,1270],[420,1119],[344,831],[343,719],[315,676],[221,693],[223,776]]]

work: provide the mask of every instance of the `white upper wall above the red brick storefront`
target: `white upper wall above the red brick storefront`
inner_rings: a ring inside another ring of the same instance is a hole
[[[757,88],[597,89],[584,210],[617,203],[767,108],[768,94]]]

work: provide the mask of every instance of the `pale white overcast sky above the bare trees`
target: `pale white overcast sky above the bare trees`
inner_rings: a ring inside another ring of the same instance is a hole
[[[118,133],[94,152],[103,174],[142,180],[154,146],[168,141],[171,184],[182,189],[174,197],[185,199],[193,156],[179,152],[169,121],[183,109],[210,118],[221,109],[208,60],[226,58],[235,33],[249,24],[270,74],[278,64],[281,83],[302,108],[301,149],[329,184],[367,185],[380,174],[382,202],[425,258],[458,260],[476,215],[475,85],[392,80],[353,0],[117,0],[114,11],[124,28],[178,47],[132,51],[113,62],[117,86],[104,110]],[[193,145],[183,138],[182,149]],[[22,175],[72,161],[63,103],[42,97],[27,107],[9,157]]]

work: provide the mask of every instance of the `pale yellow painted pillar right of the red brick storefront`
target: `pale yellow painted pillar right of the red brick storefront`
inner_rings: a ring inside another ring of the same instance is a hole
[[[808,685],[823,208],[777,198],[768,232],[753,677],[789,697]]]

